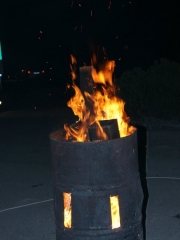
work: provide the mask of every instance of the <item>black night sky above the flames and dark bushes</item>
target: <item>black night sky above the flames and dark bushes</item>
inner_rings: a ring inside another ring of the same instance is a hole
[[[0,40],[4,72],[90,64],[92,51],[116,61],[120,74],[154,60],[180,62],[180,1],[1,1]]]

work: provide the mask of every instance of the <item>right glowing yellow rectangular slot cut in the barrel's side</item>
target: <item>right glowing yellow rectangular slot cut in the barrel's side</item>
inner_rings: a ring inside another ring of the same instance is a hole
[[[119,228],[121,226],[120,222],[120,206],[119,198],[117,196],[110,196],[110,206],[111,206],[111,222],[112,229]]]

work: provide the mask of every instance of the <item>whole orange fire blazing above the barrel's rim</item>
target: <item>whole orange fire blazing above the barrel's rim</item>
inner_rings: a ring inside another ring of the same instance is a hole
[[[97,135],[102,140],[107,140],[107,136],[99,124],[99,120],[117,119],[120,137],[125,137],[134,132],[134,127],[129,126],[129,117],[124,111],[125,102],[116,96],[116,89],[113,84],[113,72],[115,61],[106,61],[97,66],[96,56],[92,57],[92,79],[94,82],[93,94],[84,92],[75,84],[76,59],[71,55],[71,76],[72,88],[75,95],[68,101],[67,106],[71,107],[74,114],[79,117],[75,126],[64,125],[66,140],[89,141],[88,127],[94,122],[97,123]],[[88,105],[88,107],[87,107]]]

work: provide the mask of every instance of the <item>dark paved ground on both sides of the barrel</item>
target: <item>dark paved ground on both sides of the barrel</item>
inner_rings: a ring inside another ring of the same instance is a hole
[[[55,240],[48,135],[66,114],[0,114],[0,240]],[[146,239],[179,240],[180,131],[139,132],[142,170],[147,160]]]

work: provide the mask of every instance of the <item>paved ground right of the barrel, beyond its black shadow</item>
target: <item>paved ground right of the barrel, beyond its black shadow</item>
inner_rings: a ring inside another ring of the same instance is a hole
[[[180,239],[180,131],[148,132],[147,240]]]

